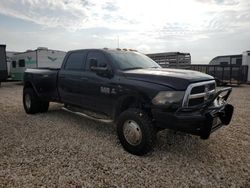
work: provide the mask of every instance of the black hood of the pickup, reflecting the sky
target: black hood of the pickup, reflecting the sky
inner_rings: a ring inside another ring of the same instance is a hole
[[[135,69],[123,73],[127,79],[160,84],[175,90],[185,90],[190,83],[214,79],[197,71],[169,68]]]

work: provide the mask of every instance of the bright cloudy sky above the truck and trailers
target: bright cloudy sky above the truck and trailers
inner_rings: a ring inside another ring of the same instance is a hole
[[[209,63],[250,50],[250,1],[1,0],[0,43],[8,51],[179,51],[191,53],[192,63]]]

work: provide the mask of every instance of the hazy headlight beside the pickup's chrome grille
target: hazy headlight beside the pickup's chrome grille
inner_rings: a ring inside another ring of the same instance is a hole
[[[184,91],[160,91],[152,100],[154,105],[170,105],[180,103],[184,96]]]

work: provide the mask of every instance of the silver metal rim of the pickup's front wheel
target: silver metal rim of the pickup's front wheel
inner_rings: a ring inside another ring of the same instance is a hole
[[[123,134],[126,141],[133,145],[137,146],[141,143],[142,132],[140,126],[133,120],[127,120],[123,124]]]

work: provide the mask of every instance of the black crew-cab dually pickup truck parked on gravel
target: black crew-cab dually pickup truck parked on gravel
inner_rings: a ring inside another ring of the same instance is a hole
[[[48,111],[49,102],[101,122],[114,122],[130,153],[149,152],[159,130],[169,128],[209,135],[228,125],[231,88],[216,88],[213,77],[196,71],[163,69],[132,50],[70,51],[61,69],[27,69],[23,105],[26,113]]]

